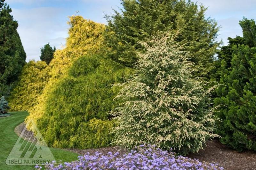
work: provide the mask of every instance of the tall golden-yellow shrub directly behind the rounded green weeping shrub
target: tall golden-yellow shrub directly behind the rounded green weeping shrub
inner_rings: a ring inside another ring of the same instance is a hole
[[[105,25],[95,23],[91,20],[84,19],[81,16],[69,17],[70,25],[66,47],[62,50],[57,50],[54,53],[54,58],[50,63],[52,68],[50,71],[51,78],[44,88],[42,95],[38,98],[38,104],[29,109],[29,119],[36,122],[44,114],[46,107],[45,99],[51,94],[54,85],[60,78],[67,76],[68,68],[74,60],[82,55],[93,55],[101,53],[103,32]]]

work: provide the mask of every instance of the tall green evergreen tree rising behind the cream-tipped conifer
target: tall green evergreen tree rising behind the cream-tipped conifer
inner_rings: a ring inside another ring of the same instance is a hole
[[[115,61],[132,66],[136,51],[144,41],[158,31],[180,30],[177,41],[187,43],[185,50],[193,53],[190,60],[198,66],[200,75],[209,72],[209,63],[220,43],[216,42],[219,27],[214,19],[206,18],[202,4],[190,0],[122,0],[121,13],[107,16],[106,45]]]

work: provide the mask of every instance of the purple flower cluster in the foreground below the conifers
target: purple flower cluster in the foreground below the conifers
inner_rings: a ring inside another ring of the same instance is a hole
[[[175,156],[175,153],[162,151],[153,146],[140,145],[131,150],[128,154],[119,155],[108,152],[102,155],[95,152],[93,155],[87,153],[79,156],[79,160],[70,163],[58,164],[56,162],[47,163],[44,168],[47,170],[82,170],[82,169],[116,169],[116,170],[187,170],[187,169],[209,169],[222,170],[218,164],[201,163],[196,159],[189,159],[183,156]],[[36,169],[42,169],[42,166],[35,166]]]

